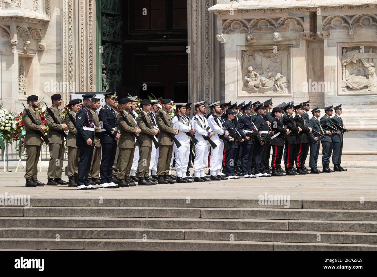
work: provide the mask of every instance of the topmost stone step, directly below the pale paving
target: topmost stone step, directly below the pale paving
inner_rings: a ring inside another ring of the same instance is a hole
[[[261,194],[263,195],[263,194]],[[293,200],[293,209],[377,210],[377,201]],[[266,208],[258,199],[31,198],[31,207]],[[14,206],[12,206],[14,207]],[[284,208],[285,205],[268,205]]]

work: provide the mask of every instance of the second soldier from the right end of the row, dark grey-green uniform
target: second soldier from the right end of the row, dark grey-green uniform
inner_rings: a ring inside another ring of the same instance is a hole
[[[331,172],[334,172],[334,170],[329,168],[330,156],[331,156],[331,152],[333,151],[333,132],[325,124],[332,126],[330,116],[333,115],[333,105],[329,107],[325,107],[325,113],[326,114],[322,116],[322,118],[319,121],[319,123],[321,124],[321,127],[326,133],[325,134],[326,138],[323,138],[321,140],[322,166],[323,166],[323,172],[331,173]]]

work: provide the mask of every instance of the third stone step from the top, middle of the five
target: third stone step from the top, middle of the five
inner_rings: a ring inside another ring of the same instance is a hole
[[[0,217],[0,228],[153,228],[377,233],[375,221],[127,217]]]

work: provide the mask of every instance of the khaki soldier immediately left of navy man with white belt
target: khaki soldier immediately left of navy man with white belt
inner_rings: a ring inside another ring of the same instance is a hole
[[[68,187],[77,187],[77,173],[80,149],[76,146],[76,113],[80,109],[80,99],[73,99],[67,105],[69,112],[66,115],[68,126],[67,147],[68,147]]]

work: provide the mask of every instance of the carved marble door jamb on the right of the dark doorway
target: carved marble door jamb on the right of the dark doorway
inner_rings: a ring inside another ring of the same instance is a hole
[[[187,0],[188,101],[214,100],[213,17],[216,0]]]

